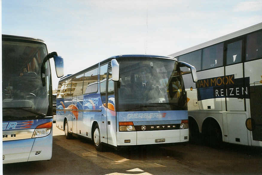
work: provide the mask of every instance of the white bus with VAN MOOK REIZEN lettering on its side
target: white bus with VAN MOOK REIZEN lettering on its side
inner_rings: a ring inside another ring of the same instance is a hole
[[[169,56],[197,71],[194,83],[181,70],[193,138],[262,146],[262,23]]]

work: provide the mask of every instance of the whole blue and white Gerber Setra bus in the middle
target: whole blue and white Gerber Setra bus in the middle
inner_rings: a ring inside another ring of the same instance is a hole
[[[56,125],[67,139],[95,148],[188,141],[187,96],[180,67],[166,56],[120,55],[60,80]]]

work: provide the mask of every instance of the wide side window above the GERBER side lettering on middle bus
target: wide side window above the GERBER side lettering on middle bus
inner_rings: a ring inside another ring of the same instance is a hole
[[[92,93],[97,92],[98,68],[90,70],[85,73],[83,92]]]

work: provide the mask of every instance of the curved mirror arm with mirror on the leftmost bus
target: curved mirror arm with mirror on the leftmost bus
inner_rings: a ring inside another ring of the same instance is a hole
[[[41,66],[41,80],[42,80],[43,86],[45,86],[45,62],[47,62],[47,60],[50,59],[50,58],[54,58],[57,77],[60,78],[60,77],[64,76],[64,60],[63,60],[63,58],[61,56],[58,56],[57,52],[48,53],[48,55],[43,60],[43,63],[42,63],[42,66]]]

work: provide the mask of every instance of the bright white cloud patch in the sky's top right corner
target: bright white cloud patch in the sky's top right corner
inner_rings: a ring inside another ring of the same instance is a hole
[[[247,1],[240,2],[234,7],[234,12],[255,12],[262,10],[262,1]]]

